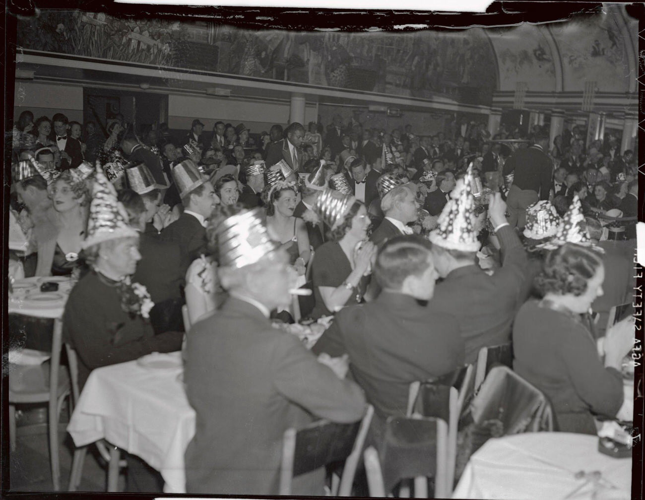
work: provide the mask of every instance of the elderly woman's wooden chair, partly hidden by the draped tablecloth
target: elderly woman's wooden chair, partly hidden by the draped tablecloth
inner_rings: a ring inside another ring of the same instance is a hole
[[[70,377],[72,379],[72,394],[74,396],[74,403],[80,397],[79,390],[79,377],[78,377],[78,357],[76,351],[69,344],[65,343],[65,350],[67,352],[67,359],[70,365]],[[128,463],[121,460],[121,451],[116,446],[110,445],[107,441],[97,441],[95,443],[99,454],[103,457],[104,461],[108,464],[108,492],[119,491],[119,468],[128,466]],[[83,475],[83,464],[85,462],[85,455],[87,454],[88,446],[81,446],[74,450],[74,457],[72,457],[72,471],[70,472],[70,484],[68,491],[75,492],[81,483],[81,476]],[[109,449],[108,449],[109,448]]]

